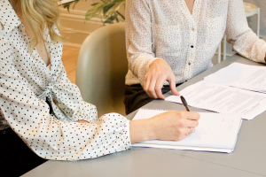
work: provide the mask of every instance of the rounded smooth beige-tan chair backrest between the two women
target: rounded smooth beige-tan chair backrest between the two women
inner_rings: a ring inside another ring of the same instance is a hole
[[[125,115],[127,72],[125,23],[101,27],[82,43],[75,81],[83,100],[97,106],[98,116],[108,112]]]

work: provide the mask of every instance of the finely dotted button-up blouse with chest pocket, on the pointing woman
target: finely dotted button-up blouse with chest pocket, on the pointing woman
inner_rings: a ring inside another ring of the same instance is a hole
[[[266,44],[248,27],[243,0],[195,0],[192,14],[184,0],[127,0],[126,84],[143,85],[156,58],[168,62],[176,83],[191,79],[212,66],[224,33],[233,50],[265,63]]]

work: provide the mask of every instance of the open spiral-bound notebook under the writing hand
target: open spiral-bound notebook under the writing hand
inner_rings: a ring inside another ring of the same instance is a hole
[[[166,111],[139,110],[134,119],[148,119]],[[176,150],[207,150],[231,152],[234,149],[239,127],[240,114],[219,114],[200,112],[196,132],[182,141],[146,141],[132,146],[167,148]]]

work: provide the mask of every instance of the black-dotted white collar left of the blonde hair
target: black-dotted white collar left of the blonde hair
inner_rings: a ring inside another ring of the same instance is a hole
[[[10,33],[21,24],[20,18],[8,0],[0,0],[0,22],[3,24],[0,24],[0,28],[4,27],[6,33]]]

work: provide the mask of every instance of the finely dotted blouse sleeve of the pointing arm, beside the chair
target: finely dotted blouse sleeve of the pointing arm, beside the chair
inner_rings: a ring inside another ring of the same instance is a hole
[[[126,45],[129,70],[144,85],[145,74],[157,58],[153,53],[152,19],[150,7],[145,0],[127,0]]]

